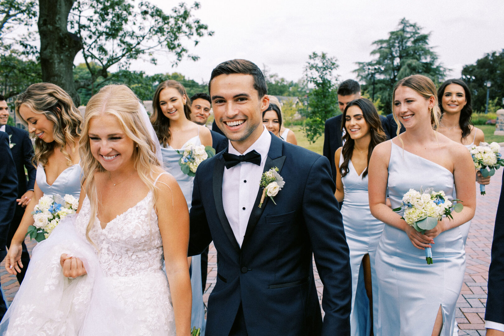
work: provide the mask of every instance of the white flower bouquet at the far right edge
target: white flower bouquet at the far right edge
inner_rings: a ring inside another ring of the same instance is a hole
[[[483,177],[493,176],[496,169],[504,166],[504,160],[500,155],[500,146],[496,142],[479,143],[479,146],[472,145],[469,151],[473,157],[474,167],[479,169]],[[479,191],[482,195],[486,193],[484,184],[479,185]]]

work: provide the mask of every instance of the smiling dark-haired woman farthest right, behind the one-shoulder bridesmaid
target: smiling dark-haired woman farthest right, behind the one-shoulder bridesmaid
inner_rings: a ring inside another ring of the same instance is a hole
[[[438,132],[469,149],[485,141],[485,135],[471,122],[471,91],[464,81],[450,79],[437,90],[437,100],[441,109]],[[471,142],[472,141],[472,142]],[[476,172],[476,182],[490,183],[490,176],[483,177]]]

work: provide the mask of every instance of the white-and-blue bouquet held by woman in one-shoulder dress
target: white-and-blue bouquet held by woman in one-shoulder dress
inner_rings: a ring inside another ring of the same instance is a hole
[[[455,212],[461,212],[461,203],[453,204],[445,198],[445,192],[434,191],[428,188],[420,191],[409,189],[403,196],[401,207],[393,209],[395,212],[403,212],[403,217],[408,225],[415,228],[416,231],[424,233],[425,230],[432,230],[436,227],[437,221],[449,217],[453,219],[452,209]],[[460,201],[459,199],[454,199]],[[432,263],[432,251],[430,247],[425,248],[425,259],[427,264]]]

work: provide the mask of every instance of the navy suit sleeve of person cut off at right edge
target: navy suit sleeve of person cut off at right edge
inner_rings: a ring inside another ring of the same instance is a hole
[[[504,174],[493,229],[485,320],[504,324]]]

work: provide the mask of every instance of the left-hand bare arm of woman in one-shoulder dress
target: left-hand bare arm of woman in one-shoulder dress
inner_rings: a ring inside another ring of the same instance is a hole
[[[367,168],[369,209],[371,214],[378,220],[403,230],[408,235],[413,246],[419,249],[431,247],[433,239],[416,231],[401,219],[401,215],[392,211],[386,204],[387,181],[389,178],[389,161],[392,143],[390,141],[377,145]]]

